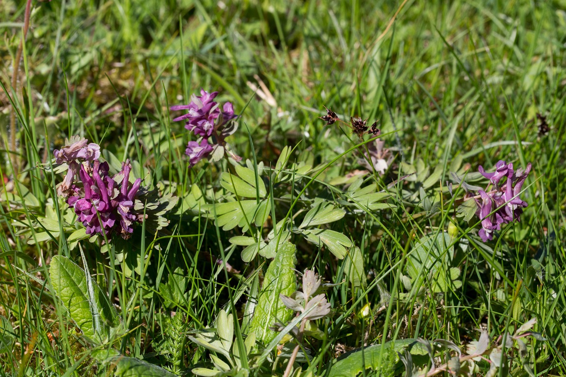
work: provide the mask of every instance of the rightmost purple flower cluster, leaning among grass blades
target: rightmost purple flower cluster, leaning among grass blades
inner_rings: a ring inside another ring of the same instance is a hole
[[[493,239],[493,231],[501,229],[502,224],[508,224],[513,220],[520,221],[523,209],[528,204],[519,198],[521,188],[525,183],[526,177],[531,170],[528,163],[525,170],[513,170],[512,163],[499,161],[495,172],[487,173],[483,167],[478,168],[479,172],[490,180],[486,190],[478,190],[479,198],[475,197],[478,205],[476,215],[482,220],[482,229],[479,236],[486,242]],[[501,180],[505,177],[505,181]],[[492,213],[495,210],[494,213]]]

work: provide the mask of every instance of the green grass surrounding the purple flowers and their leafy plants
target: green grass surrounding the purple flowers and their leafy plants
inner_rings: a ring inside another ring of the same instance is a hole
[[[506,227],[504,241],[492,243],[492,250],[470,246],[461,262],[461,291],[394,301],[372,323],[352,316],[333,329],[336,337],[328,342],[357,347],[397,336],[466,344],[477,339],[480,327],[497,337],[536,317],[537,331],[548,340],[530,348],[531,359],[538,361],[534,370],[562,375],[566,3],[408,0],[400,6],[355,0],[33,2],[18,85],[10,88],[25,2],[3,0],[0,80],[10,92],[0,92],[5,189],[29,189],[44,215],[45,207],[53,206],[53,181],[38,163],[48,162],[53,149],[75,134],[118,158],[135,159],[154,183],[177,183],[177,193],[192,183],[214,184],[225,166],[188,170],[183,156],[188,133],[182,124],[171,123],[168,111],[200,88],[219,90],[219,98],[233,102],[237,112],[245,108],[230,142],[239,155],[255,154],[266,163],[286,145],[298,145],[295,158],[318,164],[355,144],[348,132],[325,127],[317,118],[323,105],[343,119],[379,120],[397,164],[422,159],[431,170],[443,166],[444,181],[458,156],[471,171],[479,164],[487,170],[499,159],[515,166],[531,162],[529,207],[521,223]],[[254,95],[259,83],[271,93],[269,101]],[[17,176],[8,158],[12,106],[7,94],[20,114]],[[547,116],[547,136],[538,135],[537,112]],[[356,161],[347,156],[319,179],[344,176],[359,167]],[[329,293],[337,310],[357,313],[362,304],[378,309],[388,302],[383,289],[397,286],[394,266],[406,251],[398,245],[410,250],[414,235],[448,226],[446,216],[423,216],[404,201],[401,190],[396,203],[395,215],[375,214],[380,224],[363,218],[357,227],[344,225],[362,248],[366,272],[371,279],[383,278],[384,287],[372,285],[357,296],[342,285]],[[33,279],[45,279],[52,255],[76,259],[76,253],[61,240],[28,245],[17,232],[33,219],[33,210],[5,200],[1,210],[0,314],[11,320],[18,337],[12,352],[0,355],[0,374],[59,374],[71,366],[75,375],[81,370],[96,374],[65,309]],[[182,216],[169,228],[198,234],[204,226],[203,219]],[[461,233],[468,229],[465,223],[459,226]],[[217,237],[214,227],[209,231],[153,259],[156,268],[173,271],[178,263],[187,272],[195,294],[178,309],[187,314],[186,330],[211,323],[225,290],[237,285],[237,279],[226,281],[203,258],[203,250],[218,255],[218,247],[228,246],[228,235]],[[157,296],[148,293],[157,289],[156,282],[114,276],[106,255],[87,249],[93,276],[118,297],[116,303],[138,301],[125,318],[130,337],[122,351],[136,357],[154,352],[166,326]],[[238,254],[232,257],[237,265]],[[327,280],[341,281],[341,262],[328,252],[303,246],[298,258],[298,270],[315,267]],[[544,266],[542,280],[533,274],[533,258]],[[352,307],[357,297],[363,302]],[[25,353],[29,349],[31,356]],[[186,367],[202,357],[194,348],[183,352]],[[324,359],[331,357],[328,351]]]

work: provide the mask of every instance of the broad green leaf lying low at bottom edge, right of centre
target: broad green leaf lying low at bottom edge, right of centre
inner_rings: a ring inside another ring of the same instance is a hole
[[[391,341],[384,345],[386,348],[391,346]],[[358,348],[338,358],[334,363],[328,363],[323,373],[327,377],[350,377],[361,374],[364,370],[378,370],[380,367],[381,344],[370,345],[366,348]],[[393,340],[393,352],[404,353],[408,350],[415,363],[425,363],[428,361],[426,346],[419,343],[417,339]],[[383,352],[384,353],[384,352]],[[383,356],[381,356],[383,357]],[[396,369],[401,372],[402,363],[396,358]],[[329,371],[328,371],[329,370]],[[397,375],[397,374],[395,374]]]

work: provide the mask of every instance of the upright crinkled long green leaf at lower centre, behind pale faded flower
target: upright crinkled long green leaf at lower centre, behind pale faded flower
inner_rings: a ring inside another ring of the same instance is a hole
[[[269,263],[265,272],[258,305],[250,324],[250,330],[255,332],[263,344],[268,344],[277,335],[275,331],[269,330],[269,327],[276,322],[287,323],[293,317],[293,311],[283,305],[279,294],[290,296],[295,291],[296,278],[293,268],[297,261],[296,251],[297,248],[291,242],[282,242],[275,259]]]

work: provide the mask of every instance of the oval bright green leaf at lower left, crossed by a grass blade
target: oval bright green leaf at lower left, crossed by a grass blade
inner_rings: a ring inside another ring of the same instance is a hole
[[[75,321],[84,336],[91,341],[106,341],[121,331],[118,313],[110,304],[106,294],[92,282],[96,307],[100,318],[101,331],[95,334],[93,314],[88,301],[87,279],[82,268],[71,259],[55,255],[50,264],[49,277],[55,293],[68,310],[71,319]]]

